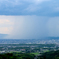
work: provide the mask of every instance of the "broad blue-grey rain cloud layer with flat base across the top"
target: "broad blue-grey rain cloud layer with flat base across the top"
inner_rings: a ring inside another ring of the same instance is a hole
[[[2,0],[0,15],[59,16],[58,7],[58,0]]]

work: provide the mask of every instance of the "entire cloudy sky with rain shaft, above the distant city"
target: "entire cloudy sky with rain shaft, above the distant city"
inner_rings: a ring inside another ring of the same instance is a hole
[[[58,2],[0,0],[0,36],[3,39],[59,37]]]

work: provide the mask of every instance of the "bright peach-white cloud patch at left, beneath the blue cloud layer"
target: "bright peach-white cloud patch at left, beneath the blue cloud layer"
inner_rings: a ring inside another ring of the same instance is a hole
[[[10,17],[10,16],[9,16]],[[13,29],[13,21],[9,17],[0,16],[0,33],[1,34],[10,34]]]

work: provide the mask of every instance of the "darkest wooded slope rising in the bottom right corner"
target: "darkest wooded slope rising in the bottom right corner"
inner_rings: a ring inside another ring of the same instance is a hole
[[[51,51],[42,54],[42,56],[38,57],[38,59],[59,59],[59,50],[58,51]]]

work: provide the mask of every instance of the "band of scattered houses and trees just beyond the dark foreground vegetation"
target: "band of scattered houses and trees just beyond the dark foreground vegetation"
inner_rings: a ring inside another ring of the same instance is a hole
[[[21,48],[20,48],[21,47]],[[56,51],[59,50],[59,47],[38,47],[35,45],[31,46],[0,46],[0,53],[11,53],[11,52],[22,52],[22,53],[43,53],[48,51]]]

